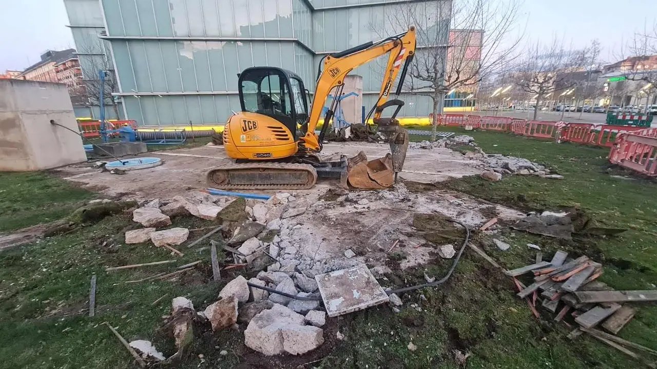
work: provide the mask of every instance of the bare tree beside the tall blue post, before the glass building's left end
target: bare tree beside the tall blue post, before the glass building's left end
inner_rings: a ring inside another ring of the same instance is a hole
[[[80,67],[82,70],[82,77],[85,88],[81,89],[79,93],[81,97],[87,101],[89,106],[101,106],[101,77],[100,71],[106,71],[103,89],[103,104],[105,106],[112,106],[114,114],[119,117],[118,104],[114,100],[112,93],[118,91],[118,81],[116,79],[114,66],[112,65],[111,56],[108,54],[110,51],[102,47],[101,39],[97,41],[89,41],[78,45],[78,54],[80,58]],[[99,49],[99,45],[101,49]],[[102,51],[99,53],[99,50]]]

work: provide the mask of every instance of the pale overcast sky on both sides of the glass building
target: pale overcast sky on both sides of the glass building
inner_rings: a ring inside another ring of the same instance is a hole
[[[583,47],[599,39],[602,58],[614,61],[623,40],[657,21],[655,1],[525,0],[519,22],[532,40],[556,36]],[[0,73],[34,64],[47,49],[75,47],[62,0],[0,0],[0,9]]]

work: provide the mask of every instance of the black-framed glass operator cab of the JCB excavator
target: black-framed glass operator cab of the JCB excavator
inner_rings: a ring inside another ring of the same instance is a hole
[[[306,88],[301,77],[281,68],[259,66],[240,73],[238,85],[242,112],[280,121],[296,141],[297,127],[308,119]]]

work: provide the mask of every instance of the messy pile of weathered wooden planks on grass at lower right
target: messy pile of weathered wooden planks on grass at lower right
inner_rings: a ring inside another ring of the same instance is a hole
[[[579,327],[569,337],[574,338],[587,332],[631,357],[640,358],[623,345],[657,355],[657,351],[614,336],[635,315],[635,309],[623,303],[657,301],[657,290],[615,291],[596,280],[602,275],[600,263],[586,256],[568,259],[564,251],[556,251],[551,261],[541,261],[537,255],[534,264],[505,271],[505,274],[513,277],[518,297],[526,299],[536,317],[539,317],[537,303],[555,313],[558,322],[570,313]],[[533,274],[533,283],[529,286],[516,278],[524,274]],[[564,323],[568,324],[566,321]],[[595,329],[599,325],[610,334]]]

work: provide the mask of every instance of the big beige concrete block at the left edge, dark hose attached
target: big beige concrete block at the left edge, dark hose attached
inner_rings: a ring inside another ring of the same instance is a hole
[[[66,85],[0,79],[0,171],[35,171],[87,160]]]

